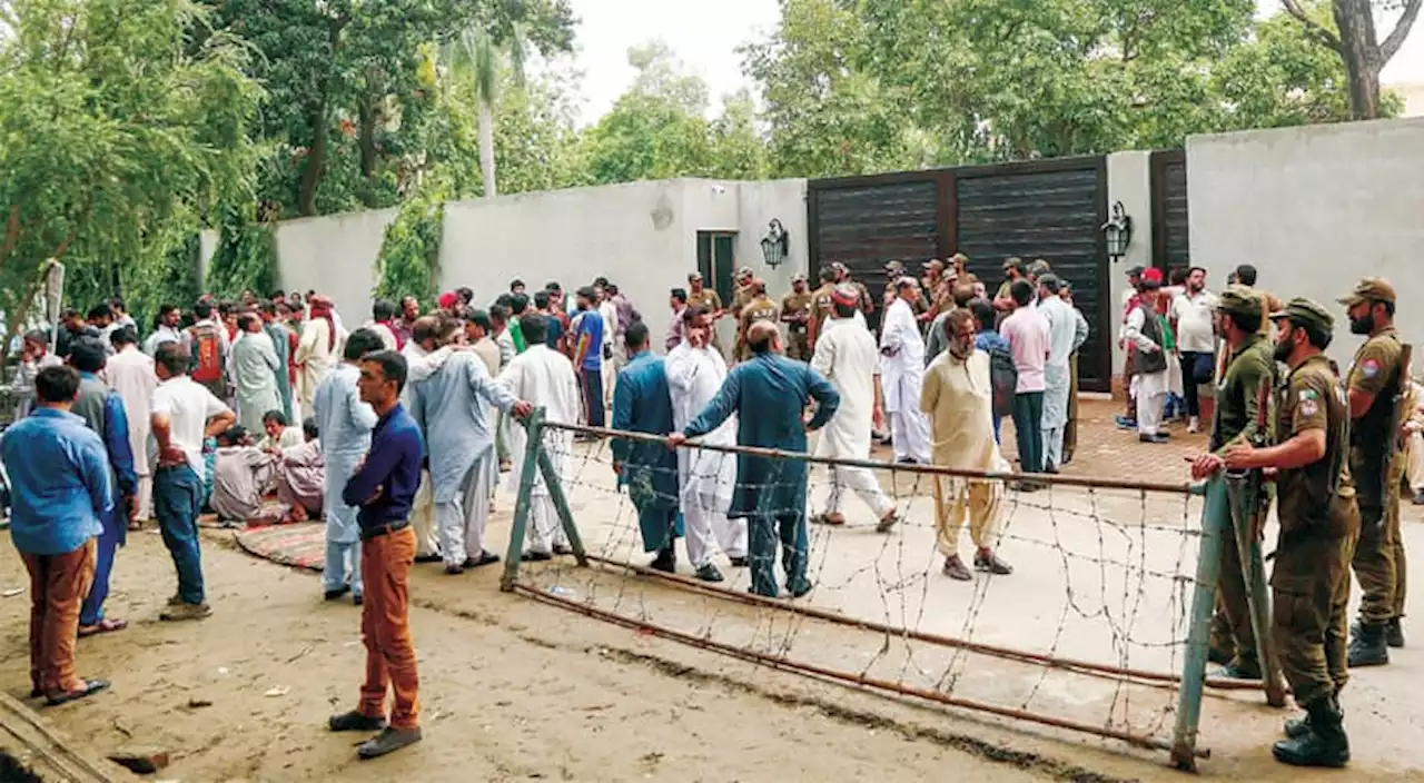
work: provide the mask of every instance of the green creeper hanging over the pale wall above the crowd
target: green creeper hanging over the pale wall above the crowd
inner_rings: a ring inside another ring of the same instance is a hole
[[[419,189],[400,205],[396,219],[386,226],[386,236],[376,258],[373,296],[399,302],[403,296],[420,299],[433,308],[440,283],[440,236],[444,231],[444,202],[450,179],[439,174],[426,178]]]

